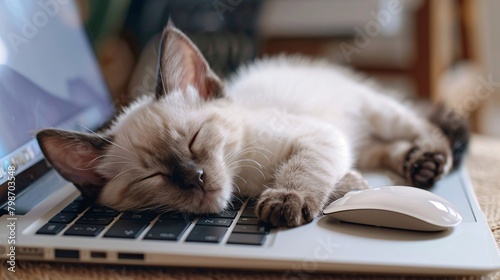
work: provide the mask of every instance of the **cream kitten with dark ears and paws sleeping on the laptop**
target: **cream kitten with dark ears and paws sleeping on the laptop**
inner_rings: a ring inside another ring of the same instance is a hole
[[[343,68],[280,56],[224,86],[184,34],[169,25],[162,36],[155,94],[102,133],[36,136],[86,198],[118,210],[213,213],[233,194],[258,196],[261,220],[293,227],[366,188],[354,168],[388,168],[423,188],[452,168],[441,129]]]

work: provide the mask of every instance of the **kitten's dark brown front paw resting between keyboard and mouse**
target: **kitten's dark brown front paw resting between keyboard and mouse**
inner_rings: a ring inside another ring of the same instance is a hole
[[[295,191],[268,189],[255,207],[259,219],[278,227],[296,227],[312,221],[320,213],[319,203]]]

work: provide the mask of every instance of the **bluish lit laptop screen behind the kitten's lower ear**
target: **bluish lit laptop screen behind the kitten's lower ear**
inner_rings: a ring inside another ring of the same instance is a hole
[[[37,130],[95,129],[112,111],[72,1],[0,0],[0,204],[8,167],[19,192],[27,184],[17,176],[43,161]]]

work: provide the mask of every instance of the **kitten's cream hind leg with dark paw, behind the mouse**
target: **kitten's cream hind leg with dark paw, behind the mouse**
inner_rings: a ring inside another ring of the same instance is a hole
[[[359,151],[359,167],[389,167],[416,187],[431,187],[452,167],[450,142],[425,116],[394,99],[377,96],[368,111],[371,140]]]

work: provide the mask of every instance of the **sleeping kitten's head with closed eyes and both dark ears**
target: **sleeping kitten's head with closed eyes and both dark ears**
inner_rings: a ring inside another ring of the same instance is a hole
[[[172,25],[163,32],[155,94],[102,134],[45,129],[50,164],[89,199],[119,210],[218,212],[232,193],[239,127],[220,114],[223,84]]]

